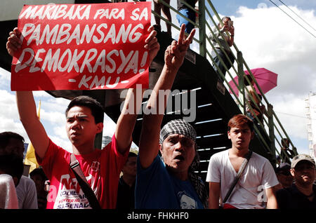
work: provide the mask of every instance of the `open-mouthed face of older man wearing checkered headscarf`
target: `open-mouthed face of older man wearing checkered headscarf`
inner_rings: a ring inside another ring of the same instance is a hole
[[[195,158],[195,142],[185,135],[171,134],[164,140],[160,151],[166,167],[184,172]]]

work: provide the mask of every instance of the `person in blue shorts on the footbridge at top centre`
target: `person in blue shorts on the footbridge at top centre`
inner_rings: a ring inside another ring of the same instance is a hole
[[[195,4],[197,4],[198,0],[178,0],[178,12],[184,15],[186,18],[192,20],[192,22],[195,22],[195,11],[193,11],[191,8],[187,7],[185,4],[183,4],[182,1],[185,1],[187,4],[192,6],[192,8],[195,8]],[[185,25],[185,32],[187,34],[190,34],[191,30],[195,28],[195,25],[193,25],[191,22],[183,18],[181,15],[177,13],[176,18],[179,22],[179,25]]]

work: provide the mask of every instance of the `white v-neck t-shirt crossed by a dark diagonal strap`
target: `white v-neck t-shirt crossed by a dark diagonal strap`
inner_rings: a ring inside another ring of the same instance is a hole
[[[220,198],[225,198],[237,173],[230,163],[228,150],[211,156],[206,182],[220,182]],[[253,152],[239,181],[226,203],[236,208],[265,208],[267,198],[263,189],[279,184],[267,158]]]

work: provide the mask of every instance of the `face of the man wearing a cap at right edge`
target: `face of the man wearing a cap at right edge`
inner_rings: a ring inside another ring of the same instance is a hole
[[[316,175],[315,165],[309,161],[300,161],[291,169],[291,175],[294,176],[295,182],[303,187],[313,184]]]

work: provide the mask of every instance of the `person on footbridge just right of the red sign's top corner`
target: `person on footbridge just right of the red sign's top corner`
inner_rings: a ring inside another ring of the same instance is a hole
[[[164,18],[166,18],[166,20],[171,22],[170,8],[162,4],[162,2],[159,2],[159,0],[153,0],[153,1],[154,1],[154,11],[158,13],[159,15],[162,12],[162,14],[164,15]],[[164,0],[164,2],[170,5],[170,0]],[[160,25],[160,18],[155,15],[154,21],[156,22],[156,25],[154,25],[154,28],[161,31],[162,26]],[[167,33],[171,36],[171,25],[168,22],[166,22],[166,28],[167,28]]]

